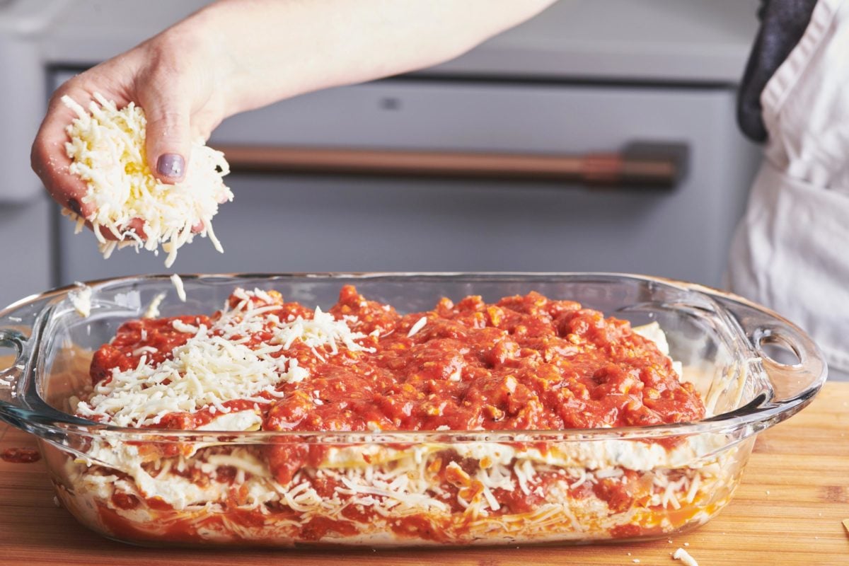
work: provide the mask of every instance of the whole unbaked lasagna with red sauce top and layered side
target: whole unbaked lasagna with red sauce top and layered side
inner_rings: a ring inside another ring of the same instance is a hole
[[[708,415],[667,348],[656,323],[537,293],[400,314],[351,286],[328,311],[236,289],[94,352],[71,411],[140,436],[91,440],[59,494],[133,541],[663,535],[722,507],[736,468],[724,437],[617,437]]]

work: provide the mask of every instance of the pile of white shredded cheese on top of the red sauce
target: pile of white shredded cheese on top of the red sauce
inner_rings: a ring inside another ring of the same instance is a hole
[[[312,319],[296,317],[281,322],[264,316],[278,305],[255,305],[255,299],[267,294],[238,289],[233,295],[244,299],[235,308],[222,311],[211,328],[171,322],[177,332],[193,335],[172,351],[170,359],[154,365],[148,361],[149,352],[139,349],[137,367],[125,371],[115,368],[109,379],[95,385],[87,401],[76,406],[76,412],[82,417],[134,427],[160,423],[171,412],[198,412],[210,407],[228,413],[228,401],[245,399],[265,404],[281,395],[276,390],[278,384],[308,377],[296,358],[285,356],[296,340],[313,350],[329,349],[331,355],[339,353],[341,347],[367,350],[356,341],[365,338],[364,334],[351,331],[345,320],[336,320],[319,308]],[[267,341],[248,347],[233,340],[257,333],[269,322],[273,328]]]

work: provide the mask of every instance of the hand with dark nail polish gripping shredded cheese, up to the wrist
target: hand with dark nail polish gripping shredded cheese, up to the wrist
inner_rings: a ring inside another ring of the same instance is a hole
[[[65,127],[76,114],[61,102],[64,95],[85,109],[93,92],[114,100],[118,108],[130,102],[141,106],[147,116],[150,171],[161,182],[182,181],[192,140],[207,139],[225,117],[226,89],[220,86],[222,64],[221,59],[213,63],[215,53],[215,46],[206,45],[203,34],[165,31],[59,87],[31,152],[32,169],[53,199],[83,217],[94,212],[92,205],[82,201],[86,184],[68,170]],[[132,221],[127,228],[143,237],[141,226],[141,221]],[[114,239],[108,231],[103,233]]]

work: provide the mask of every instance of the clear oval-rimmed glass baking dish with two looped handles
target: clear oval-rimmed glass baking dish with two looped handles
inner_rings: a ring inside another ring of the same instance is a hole
[[[59,501],[111,539],[420,546],[666,537],[730,502],[756,434],[807,406],[826,375],[816,345],[775,313],[656,277],[242,274],[183,282],[185,303],[167,276],[122,277],[88,283],[88,317],[69,296],[76,287],[0,312],[0,345],[17,352],[0,372],[0,418],[37,436]],[[167,317],[209,314],[236,287],[276,289],[326,309],[346,283],[402,313],[430,310],[443,296],[492,302],[537,291],[635,326],[658,322],[709,416],[627,428],[353,433],[121,429],[69,412],[70,397],[90,386],[93,350],[162,292]],[[793,362],[768,356],[775,346]],[[268,477],[270,446],[309,455],[287,485]]]

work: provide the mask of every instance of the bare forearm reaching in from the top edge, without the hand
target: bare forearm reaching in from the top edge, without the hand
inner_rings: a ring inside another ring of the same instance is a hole
[[[554,0],[223,0],[164,32],[201,34],[227,115],[453,59]]]

